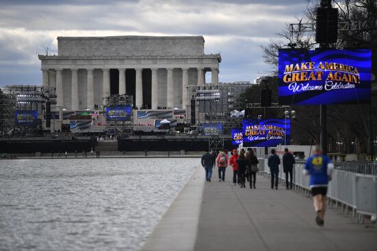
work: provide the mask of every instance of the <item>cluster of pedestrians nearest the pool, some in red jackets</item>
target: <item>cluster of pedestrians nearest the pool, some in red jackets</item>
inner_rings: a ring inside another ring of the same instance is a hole
[[[258,159],[254,150],[250,149],[247,153],[241,150],[233,149],[231,156],[228,156],[228,150],[220,151],[218,155],[214,151],[208,151],[202,156],[202,166],[206,170],[206,181],[210,182],[212,177],[212,168],[219,168],[219,182],[225,181],[226,168],[232,166],[233,185],[239,184],[240,187],[246,187],[246,181],[250,182],[250,188],[256,188],[256,172],[258,172]]]

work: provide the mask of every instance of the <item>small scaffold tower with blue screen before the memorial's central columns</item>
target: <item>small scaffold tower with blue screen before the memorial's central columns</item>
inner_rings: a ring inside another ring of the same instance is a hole
[[[116,136],[121,137],[129,137],[132,135],[134,133],[134,113],[132,111],[132,104],[134,103],[133,97],[125,94],[114,94],[106,96],[104,103],[106,103],[106,130],[114,131]],[[108,116],[109,109],[122,109],[124,112],[127,112],[127,117],[112,119]]]

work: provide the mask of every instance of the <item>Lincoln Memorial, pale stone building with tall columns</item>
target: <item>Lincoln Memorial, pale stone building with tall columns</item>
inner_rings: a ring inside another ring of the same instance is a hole
[[[42,85],[57,106],[93,109],[127,94],[141,107],[186,109],[187,86],[219,83],[219,54],[204,54],[203,36],[58,37],[58,55],[38,55]]]

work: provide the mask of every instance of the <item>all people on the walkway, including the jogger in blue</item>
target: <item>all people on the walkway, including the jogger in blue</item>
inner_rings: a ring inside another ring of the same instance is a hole
[[[223,150],[218,155],[208,151],[202,156],[202,166],[206,170],[206,181],[211,181],[212,168],[219,168],[219,182],[225,181],[226,168],[228,164],[233,170],[233,185],[239,184],[246,187],[246,180],[250,182],[250,188],[256,188],[256,173],[258,172],[258,158],[254,150],[250,149],[247,153],[237,149],[232,150],[232,156],[228,157],[228,151]],[[279,166],[280,157],[276,154],[276,150],[271,150],[271,156],[268,159],[271,174],[271,189],[278,189],[279,183]],[[285,173],[285,181],[287,189],[293,188],[293,166],[295,165],[295,157],[289,152],[288,148],[284,149],[282,156],[283,172]],[[326,211],[326,194],[328,182],[332,179],[332,170],[334,165],[330,158],[322,153],[321,147],[316,146],[313,155],[309,157],[303,169],[305,175],[310,175],[309,187],[313,196],[313,204],[315,208],[315,222],[318,226],[324,226],[324,216]]]

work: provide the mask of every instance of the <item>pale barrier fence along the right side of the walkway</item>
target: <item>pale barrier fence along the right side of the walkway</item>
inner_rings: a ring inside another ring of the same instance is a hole
[[[304,163],[296,163],[293,168],[295,189],[310,196],[309,176],[302,174]],[[270,175],[267,159],[259,159],[259,170]],[[279,166],[279,181],[285,185],[285,173]],[[364,215],[377,215],[377,176],[357,174],[343,170],[333,170],[332,181],[328,185],[328,204],[337,208],[352,210],[357,222],[363,222]]]

